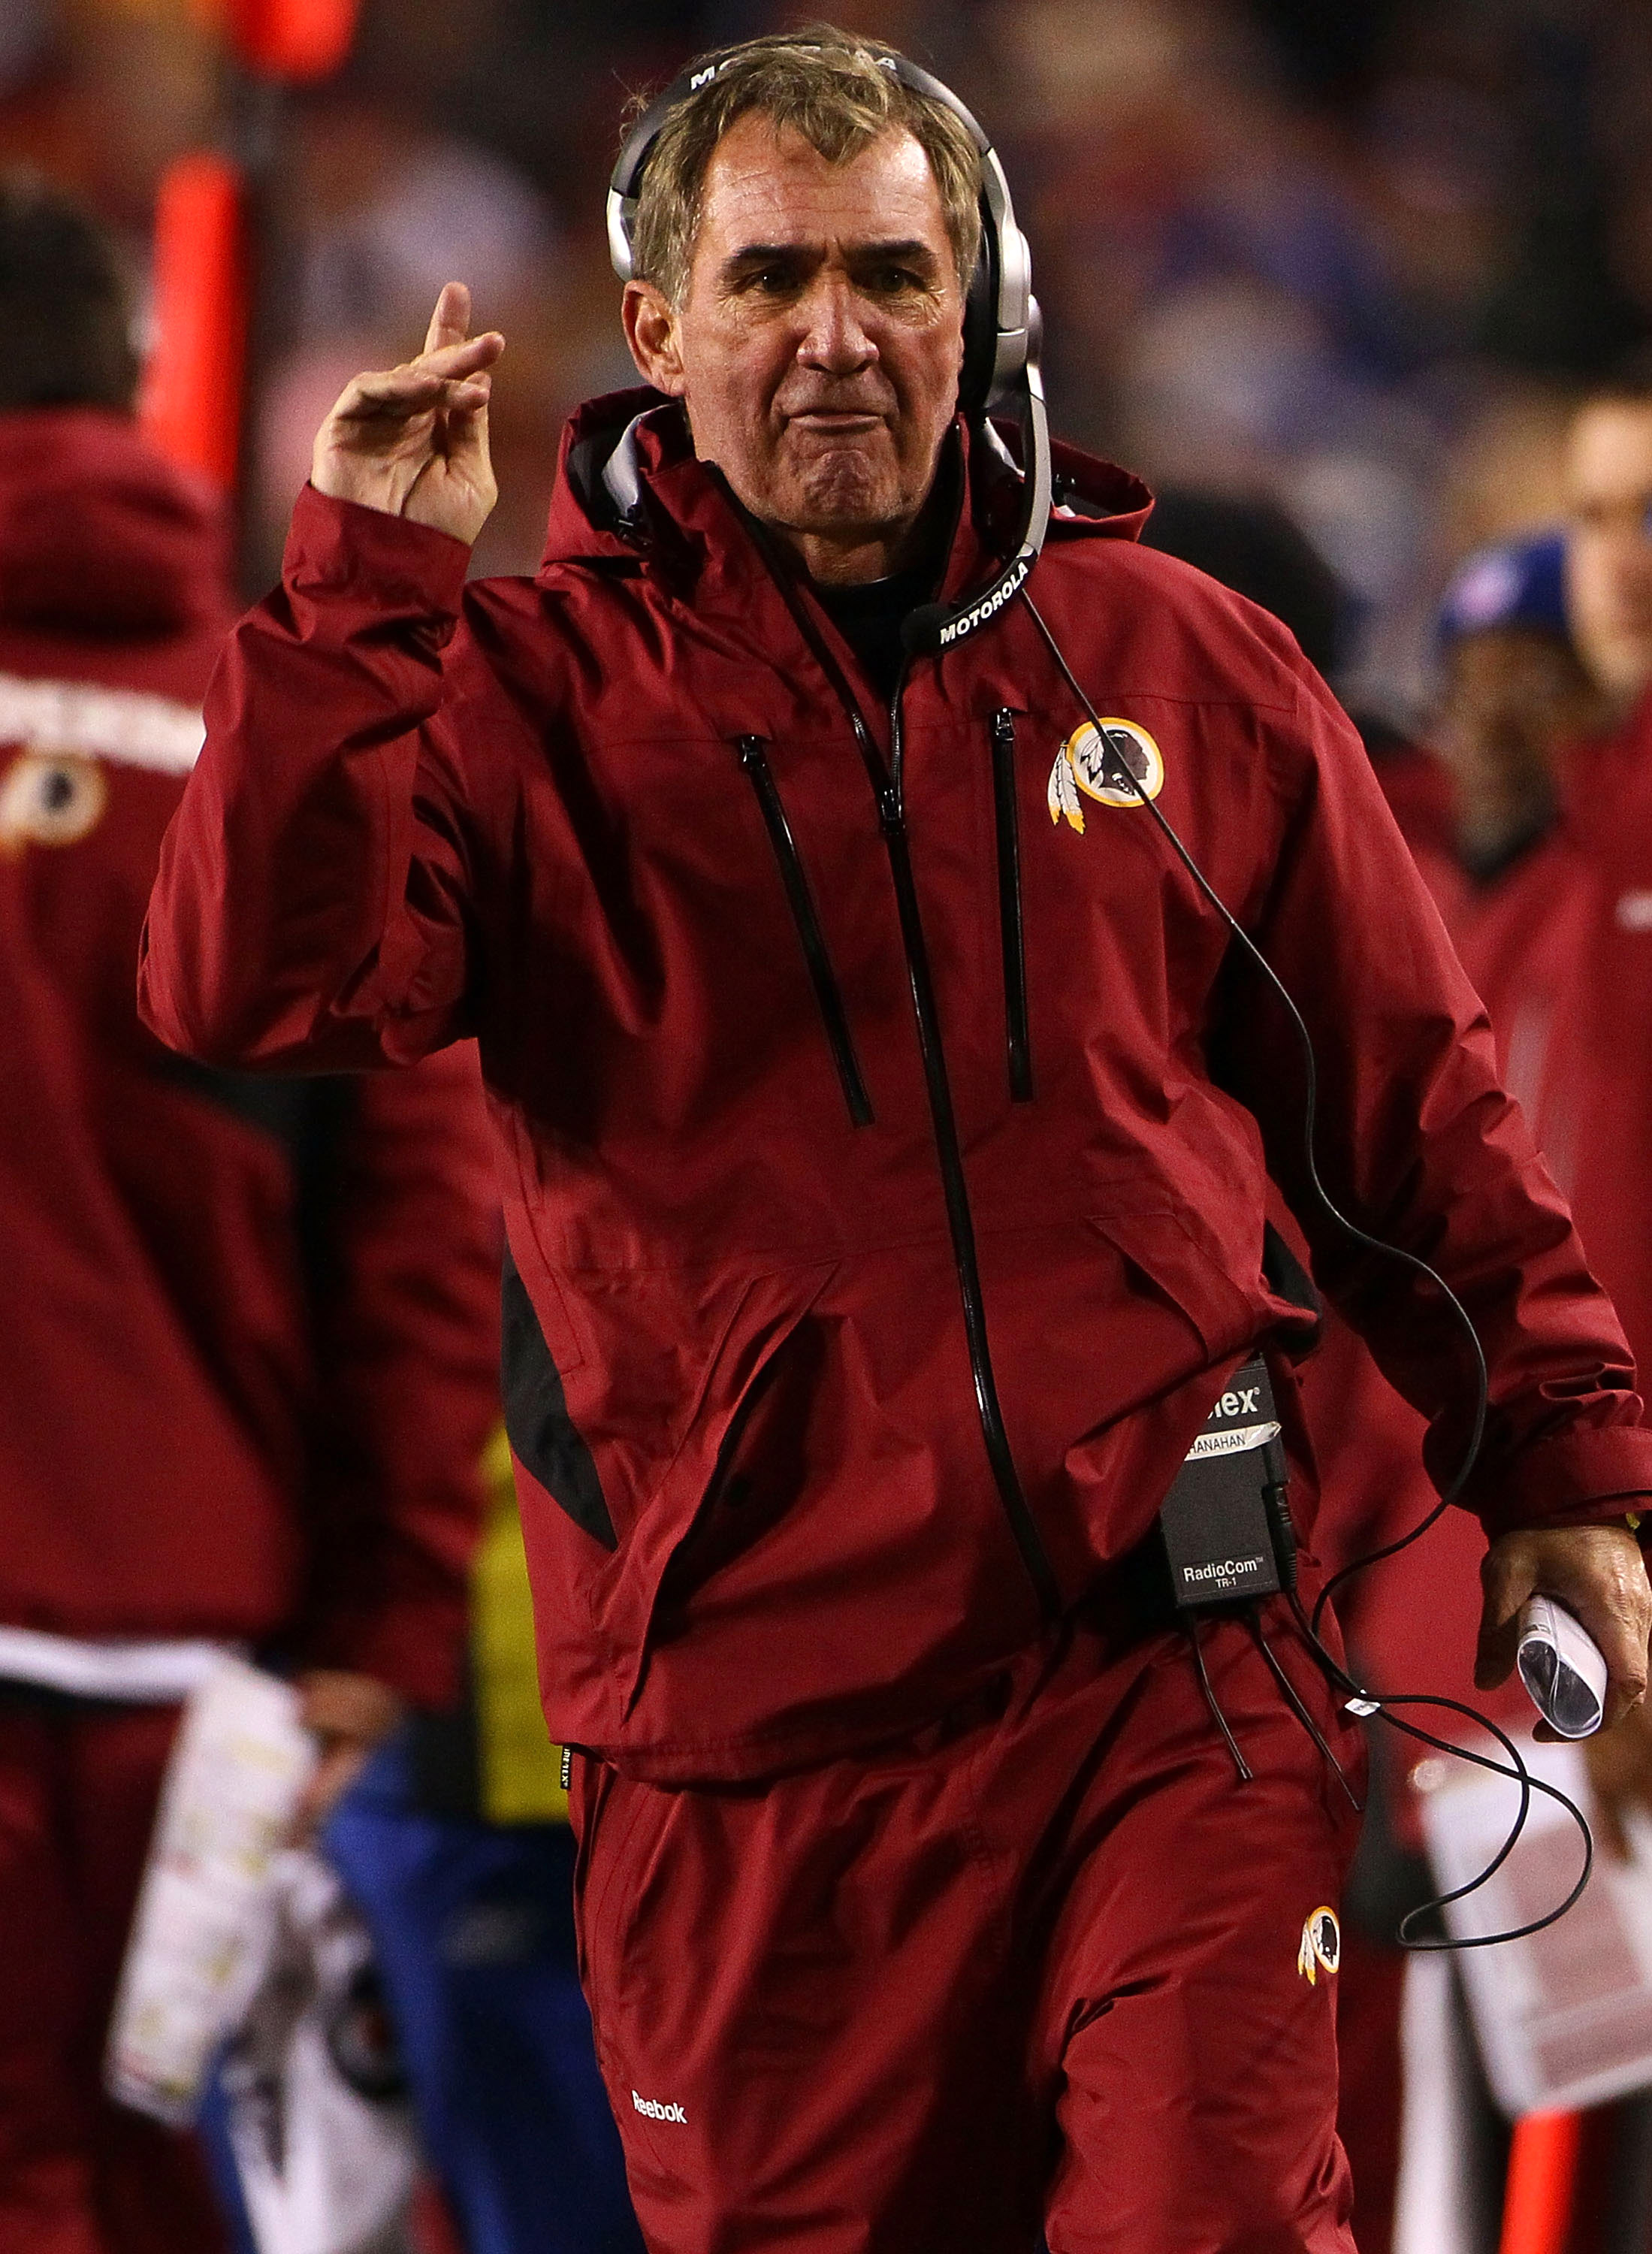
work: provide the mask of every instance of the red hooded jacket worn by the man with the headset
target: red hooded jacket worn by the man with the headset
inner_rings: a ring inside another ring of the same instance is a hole
[[[1627,1352],[1359,742],[1271,618],[1134,545],[1131,478],[1059,473],[1095,514],[1032,593],[1303,1005],[1332,1192],[1481,1323],[1481,1508],[1620,1510]],[[978,464],[947,591],[1003,498]],[[464,568],[302,496],[142,994],[221,1064],[480,1035],[552,1736],[753,1774],[996,1668],[1300,1321],[1269,1165],[1454,1463],[1449,1328],[1305,1208],[1289,1032],[1152,818],[1066,789],[1082,715],[1021,604],[911,667],[897,791],[890,715],[651,394],[570,426],[536,582]]]

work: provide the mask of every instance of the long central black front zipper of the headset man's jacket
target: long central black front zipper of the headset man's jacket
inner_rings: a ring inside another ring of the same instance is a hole
[[[987,1449],[992,1483],[998,1490],[998,1501],[1003,1503],[1003,1515],[1010,1521],[1014,1546],[1021,1553],[1021,1564],[1025,1567],[1028,1580],[1032,1582],[1039,1600],[1039,1612],[1046,1621],[1055,1621],[1062,1612],[1062,1585],[1055,1578],[1050,1553],[1043,1548],[1043,1537],[1021,1485],[1014,1452],[1010,1449],[1010,1434],[1003,1422],[1003,1404],[998,1402],[998,1382],[992,1373],[987,1305],[980,1289],[980,1260],[976,1255],[976,1224],[969,1213],[969,1183],[965,1181],[965,1161],[958,1145],[958,1118],[953,1113],[951,1084],[947,1077],[947,1053],[940,1039],[935,980],[929,969],[929,942],[924,940],[924,920],[917,906],[917,884],[913,879],[913,857],[906,841],[906,805],[902,796],[902,764],[906,753],[902,696],[906,692],[906,665],[902,665],[902,676],[895,683],[895,696],[890,699],[890,762],[886,764],[872,730],[865,726],[865,715],[861,712],[856,694],[843,676],[843,667],[823,640],[816,622],[809,618],[809,611],[798,602],[796,591],[789,586],[784,564],[778,564],[775,557],[771,557],[762,532],[755,532],[755,545],[764,559],[769,577],[780,591],[780,600],[791,611],[798,633],[809,645],[820,672],[827,676],[838,703],[843,706],[877,800],[879,829],[883,834],[883,850],[895,881],[895,908],[902,924],[902,951],[906,953],[906,983],[913,992],[917,1053],[924,1064],[924,1091],[929,1095],[935,1159],[940,1163],[940,1183],[947,1201],[947,1233],[951,1237],[953,1271],[958,1276],[958,1298],[962,1301],[965,1312],[965,1339],[969,1346],[969,1375],[976,1388],[980,1438]]]

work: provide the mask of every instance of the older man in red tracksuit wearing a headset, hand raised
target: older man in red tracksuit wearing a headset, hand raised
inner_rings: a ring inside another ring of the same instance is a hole
[[[1638,1697],[1652,1447],[1289,636],[1057,449],[1037,615],[933,654],[926,606],[1010,584],[1023,514],[958,412],[978,194],[956,108],[868,43],[687,79],[624,293],[649,388],[575,417],[539,577],[469,593],[503,338],[446,289],[340,397],[219,674],[146,1010],[275,1068],[480,1035],[651,2245],[1348,2254],[1359,1740],[1280,1598],[1176,1627],[1154,1544],[1213,1404],[1305,1325],[1269,1168],[1442,1476],[1472,1388],[1442,1301],[1314,1208],[1289,1028],[1147,800],[1296,992],[1334,1195],[1478,1321],[1487,1666],[1542,1582]]]

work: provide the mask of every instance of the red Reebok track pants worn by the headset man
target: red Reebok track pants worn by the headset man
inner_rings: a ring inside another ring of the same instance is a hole
[[[1359,1787],[1357,1729],[1280,1605],[1264,1627]],[[1039,2227],[1050,2254],[1352,2254],[1323,1911],[1357,1817],[1249,1627],[1201,1634],[1251,1783],[1183,1634],[1102,1616],[773,1783],[575,1765],[654,2254],[1032,2254]]]

